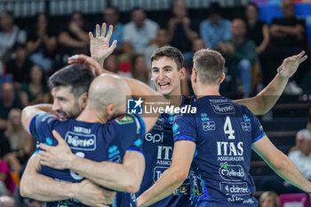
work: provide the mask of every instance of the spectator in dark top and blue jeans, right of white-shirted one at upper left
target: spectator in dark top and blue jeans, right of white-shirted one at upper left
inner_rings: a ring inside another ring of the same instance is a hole
[[[36,15],[35,25],[27,43],[30,59],[45,71],[52,68],[52,58],[57,46],[56,36],[53,36],[50,27],[46,14]]]

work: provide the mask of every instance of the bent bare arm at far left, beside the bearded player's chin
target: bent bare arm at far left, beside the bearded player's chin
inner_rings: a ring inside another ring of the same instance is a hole
[[[52,110],[51,104],[38,104],[34,106],[24,107],[24,109],[21,112],[21,122],[25,130],[29,132],[29,125],[33,117],[45,112],[52,114],[56,113],[55,111]]]

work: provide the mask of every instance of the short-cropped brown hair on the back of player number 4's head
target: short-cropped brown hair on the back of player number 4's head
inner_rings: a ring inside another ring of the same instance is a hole
[[[220,84],[225,68],[225,59],[209,48],[195,52],[194,68],[201,84]]]

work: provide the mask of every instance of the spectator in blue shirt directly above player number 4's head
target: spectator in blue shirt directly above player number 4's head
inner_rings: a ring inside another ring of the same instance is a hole
[[[213,50],[218,49],[220,42],[227,42],[231,39],[230,21],[221,18],[218,3],[211,3],[209,19],[201,23],[200,35],[206,47]]]

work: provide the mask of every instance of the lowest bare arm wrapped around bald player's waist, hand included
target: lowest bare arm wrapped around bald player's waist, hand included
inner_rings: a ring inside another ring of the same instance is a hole
[[[20,195],[44,202],[76,198],[91,206],[106,206],[104,204],[114,202],[115,192],[98,187],[87,179],[79,183],[61,182],[44,176],[39,171],[40,157],[34,154],[29,158],[20,179]]]

